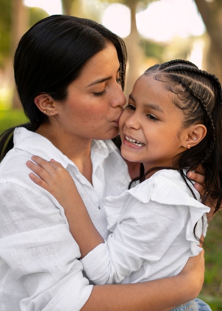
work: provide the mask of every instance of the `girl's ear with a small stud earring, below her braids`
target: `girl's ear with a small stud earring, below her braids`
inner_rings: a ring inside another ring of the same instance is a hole
[[[194,147],[198,145],[207,135],[207,128],[203,124],[195,124],[187,129],[186,139],[184,141],[184,147],[187,145]]]

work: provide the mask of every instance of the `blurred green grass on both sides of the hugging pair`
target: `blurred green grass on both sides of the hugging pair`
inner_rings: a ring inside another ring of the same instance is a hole
[[[27,122],[22,110],[0,110],[0,133],[9,127]],[[222,311],[222,214],[209,224],[205,243],[205,283],[199,298],[213,311]]]

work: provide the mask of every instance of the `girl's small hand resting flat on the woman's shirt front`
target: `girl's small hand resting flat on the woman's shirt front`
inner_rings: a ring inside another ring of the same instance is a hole
[[[36,174],[30,173],[29,177],[40,187],[49,191],[62,206],[66,206],[66,198],[77,191],[70,173],[59,162],[51,159],[49,162],[40,156],[32,156],[32,161],[26,165]]]

